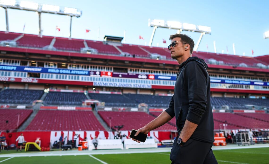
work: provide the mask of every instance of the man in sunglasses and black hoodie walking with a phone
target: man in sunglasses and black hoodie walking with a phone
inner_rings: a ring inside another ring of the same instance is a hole
[[[174,34],[169,39],[171,58],[179,64],[174,96],[168,109],[138,129],[135,135],[139,132],[148,134],[176,117],[179,136],[171,149],[172,163],[218,163],[211,149],[214,142],[214,121],[207,64],[202,59],[192,57],[194,41],[189,36]]]

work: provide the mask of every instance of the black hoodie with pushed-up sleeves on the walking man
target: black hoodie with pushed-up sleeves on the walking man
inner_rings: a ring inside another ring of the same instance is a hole
[[[198,124],[190,138],[202,142],[214,142],[210,78],[204,60],[189,57],[179,66],[174,95],[165,111],[171,117],[176,116],[179,134],[185,121],[188,120]]]

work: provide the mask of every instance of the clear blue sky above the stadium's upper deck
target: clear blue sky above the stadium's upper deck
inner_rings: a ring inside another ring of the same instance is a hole
[[[98,40],[104,35],[123,37],[126,31],[126,43],[147,45],[153,27],[148,27],[148,19],[173,20],[182,23],[210,26],[211,35],[206,34],[199,46],[199,51],[214,52],[213,41],[216,41],[217,53],[233,54],[232,44],[235,44],[237,55],[254,56],[269,54],[269,39],[263,38],[263,33],[269,30],[269,1],[227,0],[227,1],[92,1],[92,0],[28,0],[50,5],[73,7],[82,10],[80,18],[72,20],[72,38]],[[8,10],[10,32],[38,34],[38,15],[34,12]],[[70,17],[41,14],[43,35],[54,36],[58,25],[61,29],[56,36],[68,37]],[[85,34],[85,29],[91,32]],[[5,11],[0,9],[0,30],[6,30]],[[153,46],[167,47],[169,36],[176,30],[158,28]],[[191,36],[194,43],[200,33],[182,32]],[[139,39],[141,35],[144,40]],[[162,43],[162,39],[167,41]]]

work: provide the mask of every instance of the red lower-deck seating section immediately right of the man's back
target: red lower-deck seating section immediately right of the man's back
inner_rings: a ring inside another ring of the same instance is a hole
[[[268,122],[232,113],[213,113],[213,117],[215,121],[220,121],[222,123],[227,121],[227,124],[239,126],[238,128],[269,128]]]

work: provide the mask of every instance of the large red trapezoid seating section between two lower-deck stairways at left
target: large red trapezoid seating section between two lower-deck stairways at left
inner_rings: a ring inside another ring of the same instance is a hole
[[[39,110],[27,131],[105,130],[93,111]]]

